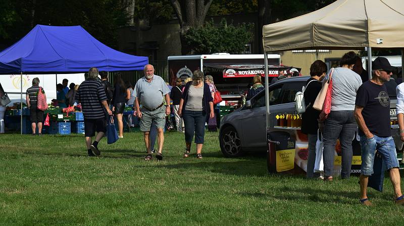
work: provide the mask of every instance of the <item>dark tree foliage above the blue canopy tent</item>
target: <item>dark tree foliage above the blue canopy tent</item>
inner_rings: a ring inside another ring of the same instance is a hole
[[[117,29],[130,19],[127,6],[126,0],[1,0],[0,43],[13,44],[37,24],[81,25],[99,41],[117,47]]]

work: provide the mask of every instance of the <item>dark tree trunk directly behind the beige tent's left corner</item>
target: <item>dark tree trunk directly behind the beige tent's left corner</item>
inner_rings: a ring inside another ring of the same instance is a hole
[[[256,26],[256,43],[258,43],[258,53],[264,53],[264,46],[262,44],[262,27],[270,23],[271,17],[271,1],[270,0],[258,0],[258,25]]]

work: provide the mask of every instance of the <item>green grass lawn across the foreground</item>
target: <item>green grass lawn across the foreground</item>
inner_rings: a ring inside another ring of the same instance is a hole
[[[268,175],[265,155],[224,158],[218,133],[202,160],[166,133],[160,162],[143,160],[140,132],[124,136],[88,158],[82,135],[0,135],[0,225],[403,225],[388,178],[366,207],[358,177]]]

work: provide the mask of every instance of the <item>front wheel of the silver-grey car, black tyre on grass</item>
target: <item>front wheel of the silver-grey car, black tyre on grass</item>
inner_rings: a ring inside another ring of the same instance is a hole
[[[225,157],[237,157],[241,152],[241,139],[232,126],[224,128],[220,133],[220,149]]]

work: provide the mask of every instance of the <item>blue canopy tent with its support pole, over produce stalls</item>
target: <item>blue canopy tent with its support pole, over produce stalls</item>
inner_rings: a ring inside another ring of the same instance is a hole
[[[142,70],[147,63],[147,57],[104,45],[81,26],[36,25],[0,52],[0,74],[21,73],[21,81],[23,72],[85,72],[90,67],[104,71]],[[22,93],[21,82],[21,102]]]

